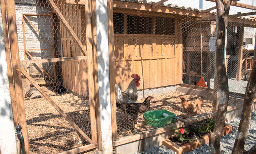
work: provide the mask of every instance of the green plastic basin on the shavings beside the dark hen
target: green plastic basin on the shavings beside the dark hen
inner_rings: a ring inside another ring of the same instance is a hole
[[[169,116],[164,117],[163,113],[166,113]],[[171,123],[175,123],[175,119],[174,119],[175,116],[176,114],[171,113],[167,110],[147,111],[143,114],[143,118],[145,119],[145,124],[152,127],[163,127]]]

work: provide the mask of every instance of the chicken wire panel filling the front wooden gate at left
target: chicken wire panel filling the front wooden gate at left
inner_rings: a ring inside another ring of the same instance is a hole
[[[96,145],[87,8],[66,0],[17,0],[15,9],[31,153]]]

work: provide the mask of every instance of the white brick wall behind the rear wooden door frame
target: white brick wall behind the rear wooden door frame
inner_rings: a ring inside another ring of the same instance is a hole
[[[20,60],[25,59],[24,55],[24,43],[23,43],[23,31],[22,31],[22,13],[23,14],[50,14],[50,7],[48,5],[36,5],[34,0],[15,0],[15,12],[16,23],[18,30],[18,44]],[[40,31],[43,37],[52,44],[52,16],[27,16],[32,24]],[[57,20],[59,22],[59,20]],[[56,24],[56,40],[57,40],[57,54],[61,57],[61,45],[60,45],[60,25]],[[32,50],[29,53],[34,59],[52,58],[52,48],[47,41],[38,33],[38,31],[25,19],[25,35],[26,35],[26,49],[41,49]],[[50,50],[45,50],[50,49]],[[57,56],[58,57],[58,56]],[[61,63],[58,63],[61,73]],[[52,63],[40,63],[47,72],[53,72]],[[30,73],[34,76],[41,76],[42,73],[35,64],[30,64]],[[25,68],[25,65],[23,65]],[[52,75],[53,76],[53,75]]]

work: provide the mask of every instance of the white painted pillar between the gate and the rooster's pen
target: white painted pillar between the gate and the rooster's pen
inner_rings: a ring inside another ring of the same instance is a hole
[[[97,60],[103,154],[112,153],[107,0],[96,0]]]

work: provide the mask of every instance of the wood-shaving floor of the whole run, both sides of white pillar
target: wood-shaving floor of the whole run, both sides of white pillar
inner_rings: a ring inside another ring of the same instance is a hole
[[[25,85],[24,82],[23,85]],[[41,88],[91,138],[89,100],[79,98],[68,92],[56,94],[51,87],[41,86]],[[23,86],[23,94],[26,91],[26,87]],[[171,91],[157,96],[152,95],[154,99],[151,100],[150,111],[165,109],[184,119],[192,117],[193,115],[182,108],[181,100],[178,98],[181,95],[188,101],[197,98],[197,96],[185,95],[178,91]],[[144,98],[141,98],[137,102],[143,101]],[[36,99],[25,98],[24,103],[31,154],[57,154],[89,144],[44,97]],[[211,101],[203,100],[202,109],[198,114],[211,111],[211,103]],[[132,132],[130,124],[123,120],[125,117],[121,111],[117,110],[116,117],[118,138],[138,134],[143,130],[150,131],[155,129],[145,125],[144,118],[141,115],[137,120],[138,124],[135,124],[135,132]],[[93,149],[86,153],[95,153],[96,151],[96,149]]]

